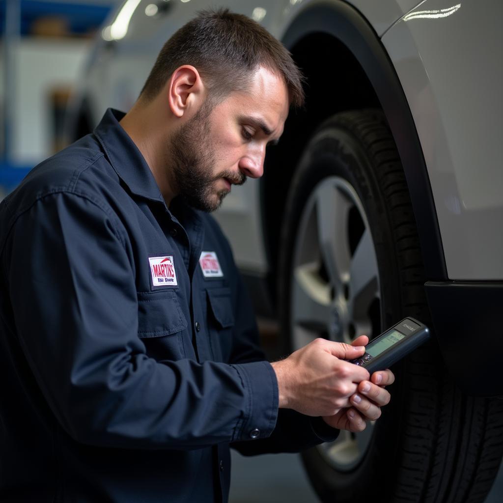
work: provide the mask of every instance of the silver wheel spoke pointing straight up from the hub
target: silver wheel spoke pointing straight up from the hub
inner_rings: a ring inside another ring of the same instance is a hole
[[[349,277],[348,212],[352,203],[330,182],[317,190],[319,246],[330,283],[338,290]]]

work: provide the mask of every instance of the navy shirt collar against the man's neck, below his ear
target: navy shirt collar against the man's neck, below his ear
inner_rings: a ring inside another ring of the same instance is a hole
[[[124,112],[112,108],[107,109],[94,134],[101,143],[114,171],[133,194],[164,203],[145,158],[119,124],[125,115]]]

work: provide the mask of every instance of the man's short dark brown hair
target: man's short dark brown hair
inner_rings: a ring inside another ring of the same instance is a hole
[[[212,101],[246,89],[250,73],[265,66],[283,77],[293,106],[304,104],[303,76],[288,50],[259,23],[228,9],[201,11],[175,32],[159,52],[140,97],[155,98],[184,64],[199,71]]]

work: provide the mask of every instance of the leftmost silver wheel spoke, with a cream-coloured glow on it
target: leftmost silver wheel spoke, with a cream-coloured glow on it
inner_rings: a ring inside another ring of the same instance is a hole
[[[313,332],[326,331],[330,316],[330,285],[317,274],[317,264],[295,269],[293,275],[293,323]]]

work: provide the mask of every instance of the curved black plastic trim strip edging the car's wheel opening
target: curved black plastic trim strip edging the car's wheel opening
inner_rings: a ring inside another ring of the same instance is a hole
[[[328,33],[344,43],[372,83],[403,164],[426,276],[430,280],[447,280],[437,212],[421,143],[400,80],[379,36],[365,18],[348,4],[318,2],[309,4],[299,13],[282,42],[292,50],[302,38],[316,32]]]

